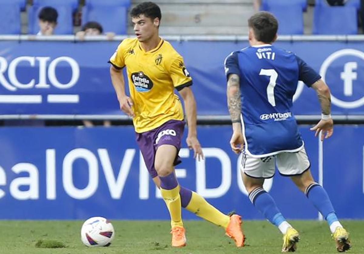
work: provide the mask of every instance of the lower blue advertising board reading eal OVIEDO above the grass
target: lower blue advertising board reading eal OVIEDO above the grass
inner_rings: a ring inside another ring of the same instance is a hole
[[[318,181],[318,139],[309,126],[300,131]],[[235,210],[246,219],[260,219],[240,179],[240,159],[230,149],[230,135],[230,126],[198,127],[205,160],[195,161],[193,152],[182,148],[179,183],[224,213]],[[321,180],[340,218],[364,218],[364,141],[357,138],[363,135],[363,126],[336,126],[323,144]],[[169,218],[132,127],[4,127],[0,142],[1,219]],[[264,187],[286,217],[318,217],[287,177],[277,173]],[[197,218],[189,212],[183,216]]]

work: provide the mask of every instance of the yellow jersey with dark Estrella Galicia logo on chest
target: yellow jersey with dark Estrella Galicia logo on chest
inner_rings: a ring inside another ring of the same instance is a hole
[[[169,42],[161,39],[155,49],[145,52],[137,38],[127,38],[109,62],[117,69],[126,66],[136,132],[153,130],[168,120],[183,120],[174,89],[192,85],[192,79]]]

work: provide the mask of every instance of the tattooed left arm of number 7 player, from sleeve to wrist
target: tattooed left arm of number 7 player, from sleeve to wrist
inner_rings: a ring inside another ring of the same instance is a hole
[[[239,76],[237,74],[230,74],[227,81],[227,107],[232,122],[240,122],[241,98]]]

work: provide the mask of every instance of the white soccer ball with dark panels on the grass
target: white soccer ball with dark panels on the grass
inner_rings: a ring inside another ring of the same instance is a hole
[[[115,231],[111,222],[104,217],[91,217],[81,228],[81,241],[86,246],[109,246]]]

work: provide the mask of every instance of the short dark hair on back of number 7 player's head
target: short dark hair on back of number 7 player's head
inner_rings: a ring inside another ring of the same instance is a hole
[[[276,37],[278,21],[269,12],[258,12],[248,20],[248,25],[253,29],[257,41],[271,43]]]

